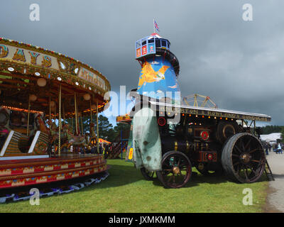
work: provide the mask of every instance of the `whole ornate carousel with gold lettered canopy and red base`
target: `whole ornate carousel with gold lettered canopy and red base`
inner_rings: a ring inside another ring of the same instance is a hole
[[[110,89],[72,57],[0,38],[0,189],[107,172],[94,145]]]

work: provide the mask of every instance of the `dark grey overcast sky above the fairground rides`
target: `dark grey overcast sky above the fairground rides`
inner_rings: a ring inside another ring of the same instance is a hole
[[[31,4],[40,21],[30,21]],[[253,6],[244,21],[243,5]],[[0,36],[74,57],[111,89],[136,88],[135,42],[153,33],[180,62],[182,96],[203,94],[222,109],[272,116],[284,125],[283,0],[1,0]]]

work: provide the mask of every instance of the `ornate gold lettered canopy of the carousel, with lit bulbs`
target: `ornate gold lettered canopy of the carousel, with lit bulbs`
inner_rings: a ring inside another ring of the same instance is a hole
[[[49,113],[58,106],[61,85],[65,114],[102,111],[109,81],[92,67],[54,51],[0,38],[0,106]],[[92,106],[92,107],[91,107]],[[55,111],[56,112],[56,111]]]

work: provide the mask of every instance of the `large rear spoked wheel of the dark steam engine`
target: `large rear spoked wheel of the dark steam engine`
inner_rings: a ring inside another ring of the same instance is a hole
[[[250,133],[237,133],[226,141],[222,150],[226,174],[241,183],[256,182],[266,165],[261,141]]]

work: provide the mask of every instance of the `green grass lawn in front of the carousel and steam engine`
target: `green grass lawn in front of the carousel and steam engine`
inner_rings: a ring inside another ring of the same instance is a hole
[[[0,204],[0,212],[261,212],[268,182],[237,184],[225,177],[193,176],[181,189],[165,189],[158,180],[143,179],[133,163],[108,160],[109,177],[79,192]],[[253,205],[242,203],[243,189],[253,191]]]

